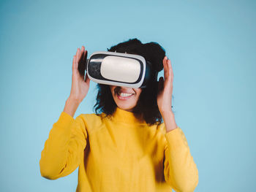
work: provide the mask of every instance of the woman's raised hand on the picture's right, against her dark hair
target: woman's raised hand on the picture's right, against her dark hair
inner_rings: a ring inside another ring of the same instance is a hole
[[[162,116],[172,112],[173,68],[167,56],[162,60],[164,77],[159,78],[157,105]]]

